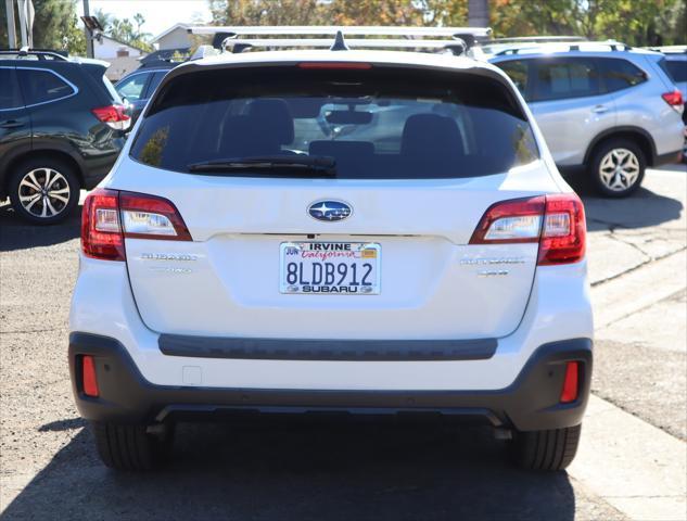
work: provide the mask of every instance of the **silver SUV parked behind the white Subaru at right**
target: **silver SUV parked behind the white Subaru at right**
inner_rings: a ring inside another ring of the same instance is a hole
[[[559,168],[629,195],[645,168],[679,161],[683,96],[663,54],[614,42],[540,43],[489,58],[530,104]]]

